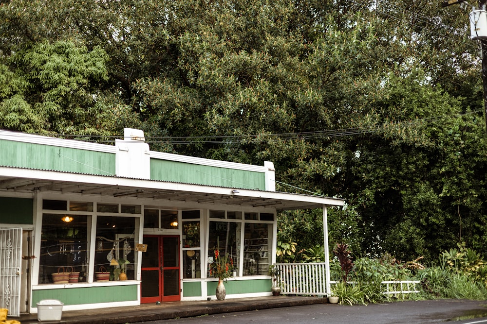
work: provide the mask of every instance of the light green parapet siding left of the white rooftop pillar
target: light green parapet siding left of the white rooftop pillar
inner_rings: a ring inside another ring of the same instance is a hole
[[[115,154],[0,139],[0,165],[100,175],[115,174]]]

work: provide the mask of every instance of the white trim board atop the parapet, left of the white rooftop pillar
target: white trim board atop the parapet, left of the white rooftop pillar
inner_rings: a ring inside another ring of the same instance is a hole
[[[46,137],[40,135],[32,135],[26,133],[10,132],[5,130],[0,130],[0,139],[10,140],[15,142],[25,142],[41,145],[59,146],[67,147],[72,149],[105,152],[105,153],[116,153],[116,147],[113,145],[88,143],[73,139],[64,138],[54,138]]]

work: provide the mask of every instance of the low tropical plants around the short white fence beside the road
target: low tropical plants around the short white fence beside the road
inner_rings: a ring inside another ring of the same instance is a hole
[[[445,250],[439,256],[439,265],[425,266],[419,260],[401,262],[389,254],[380,258],[360,257],[354,261],[344,281],[341,267],[350,264],[350,260],[337,257],[330,265],[332,280],[336,281],[332,294],[339,297],[340,304],[349,305],[397,299],[487,298],[486,267],[480,255],[465,244],[458,244],[458,249]],[[386,285],[381,283],[385,281],[419,281],[415,286],[419,293],[384,294]]]

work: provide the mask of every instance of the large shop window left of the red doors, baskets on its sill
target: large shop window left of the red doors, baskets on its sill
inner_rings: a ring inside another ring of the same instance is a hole
[[[38,284],[135,279],[140,205],[46,199],[42,208]]]

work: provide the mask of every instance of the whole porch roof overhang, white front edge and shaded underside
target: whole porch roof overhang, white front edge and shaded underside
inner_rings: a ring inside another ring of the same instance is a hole
[[[154,201],[296,210],[342,206],[344,200],[295,193],[223,188],[60,171],[0,167],[1,191],[77,193]]]

